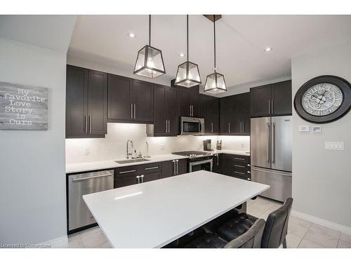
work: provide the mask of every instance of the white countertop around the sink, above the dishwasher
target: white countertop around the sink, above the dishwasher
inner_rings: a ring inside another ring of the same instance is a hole
[[[66,173],[80,173],[86,172],[90,170],[100,170],[100,169],[110,169],[110,168],[118,168],[125,166],[136,166],[145,163],[157,163],[160,161],[171,161],[176,159],[187,159],[187,156],[180,156],[176,154],[160,154],[153,155],[150,158],[145,158],[149,161],[140,161],[137,163],[124,163],[119,164],[115,161],[117,160],[107,160],[107,161],[91,161],[86,163],[67,163],[66,164]]]

